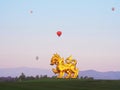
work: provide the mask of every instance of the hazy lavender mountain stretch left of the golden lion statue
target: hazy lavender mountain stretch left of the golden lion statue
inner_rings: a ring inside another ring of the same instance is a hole
[[[40,69],[40,68],[28,68],[28,67],[0,68],[0,77],[8,77],[8,76],[16,77],[16,76],[20,76],[21,73],[24,73],[26,76],[54,75],[51,70]]]

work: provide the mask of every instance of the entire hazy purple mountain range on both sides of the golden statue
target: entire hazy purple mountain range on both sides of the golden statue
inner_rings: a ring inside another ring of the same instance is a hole
[[[24,73],[26,76],[36,76],[36,75],[47,75],[49,77],[54,76],[55,74],[51,69],[39,69],[39,68],[1,68],[0,77],[18,77],[21,73]],[[120,80],[120,71],[108,71],[108,72],[98,72],[95,70],[85,70],[79,72],[79,77],[93,77],[94,79],[110,79],[110,80]]]

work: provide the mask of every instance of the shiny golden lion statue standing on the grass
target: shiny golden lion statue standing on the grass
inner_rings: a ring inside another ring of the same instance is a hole
[[[57,53],[52,56],[50,63],[50,65],[56,65],[56,69],[53,68],[52,71],[58,74],[57,78],[77,78],[79,70],[76,68],[76,64],[77,61],[72,59],[72,56],[64,60]]]

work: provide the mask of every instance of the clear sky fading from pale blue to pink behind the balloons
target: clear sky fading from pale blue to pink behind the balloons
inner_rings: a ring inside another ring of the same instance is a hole
[[[80,70],[120,71],[120,1],[0,0],[0,68],[52,69],[56,52]]]

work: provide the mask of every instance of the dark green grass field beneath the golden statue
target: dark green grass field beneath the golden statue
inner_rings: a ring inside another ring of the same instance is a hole
[[[39,79],[0,82],[0,90],[120,90],[120,80]]]

